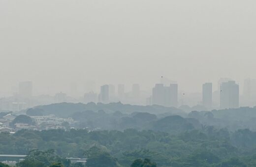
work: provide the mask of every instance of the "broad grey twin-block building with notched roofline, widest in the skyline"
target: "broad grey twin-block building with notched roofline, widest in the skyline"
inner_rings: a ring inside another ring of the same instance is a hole
[[[178,106],[178,84],[164,86],[157,83],[152,89],[152,104],[165,107]]]

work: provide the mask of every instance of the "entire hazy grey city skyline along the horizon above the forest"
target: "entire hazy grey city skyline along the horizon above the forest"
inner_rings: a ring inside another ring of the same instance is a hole
[[[149,90],[141,90],[139,84],[132,84],[131,90],[127,91],[125,84],[101,85],[96,91],[94,84],[89,84],[86,93],[75,97],[78,92],[76,86],[72,86],[73,93],[70,97],[64,92],[56,93],[54,96],[33,96],[32,82],[19,83],[18,92],[7,98],[0,98],[0,111],[21,111],[38,105],[52,103],[111,103],[121,102],[131,105],[161,105],[165,107],[181,106],[203,106],[207,110],[238,108],[239,106],[256,105],[256,80],[246,79],[244,81],[243,94],[239,92],[239,85],[228,78],[219,80],[218,89],[213,90],[213,83],[204,83],[201,93],[186,93],[178,89],[178,84],[161,78],[160,83]]]

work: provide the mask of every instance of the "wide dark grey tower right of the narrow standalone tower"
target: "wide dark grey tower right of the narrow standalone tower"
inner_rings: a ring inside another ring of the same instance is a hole
[[[232,109],[239,107],[239,85],[235,81],[221,84],[220,108]]]

